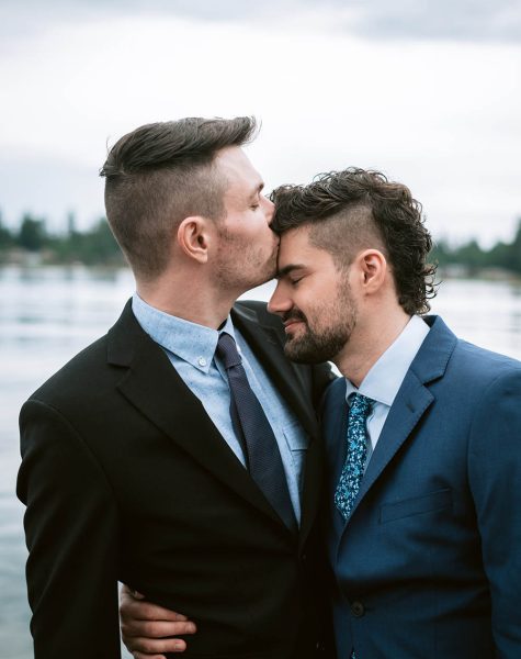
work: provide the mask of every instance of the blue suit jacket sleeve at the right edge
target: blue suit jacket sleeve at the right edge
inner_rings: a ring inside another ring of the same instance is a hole
[[[496,378],[474,417],[468,453],[498,657],[521,657],[521,369]]]

